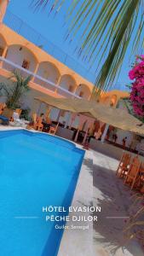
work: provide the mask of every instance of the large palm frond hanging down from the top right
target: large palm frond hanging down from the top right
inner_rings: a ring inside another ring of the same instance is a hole
[[[65,2],[53,0],[50,11],[58,13]],[[48,4],[49,0],[32,0],[35,9],[45,9]],[[82,32],[79,54],[98,68],[95,86],[100,90],[107,90],[118,79],[128,48],[130,55],[139,52],[143,44],[143,7],[143,0],[75,0],[70,4],[68,34],[73,38]]]

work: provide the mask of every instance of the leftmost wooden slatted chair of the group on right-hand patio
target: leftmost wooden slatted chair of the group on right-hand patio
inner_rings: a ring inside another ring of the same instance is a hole
[[[131,158],[131,155],[128,153],[124,153],[122,155],[118,165],[117,173],[116,173],[118,177],[124,177],[125,174],[128,172],[128,168],[130,166],[130,158]]]

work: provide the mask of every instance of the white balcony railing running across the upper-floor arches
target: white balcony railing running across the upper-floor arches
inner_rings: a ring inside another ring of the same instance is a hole
[[[9,72],[13,72],[14,70],[17,70],[23,77],[27,77],[31,75],[34,83],[43,86],[44,88],[49,90],[49,92],[55,91],[57,89],[58,90],[57,94],[59,94],[60,96],[81,98],[75,93],[72,93],[71,91],[60,87],[58,84],[55,84],[48,79],[43,79],[36,73],[32,73],[30,70],[20,67],[19,65],[15,64],[12,61],[9,61],[8,59],[0,57],[0,62],[2,63],[1,67],[5,70],[8,70]]]

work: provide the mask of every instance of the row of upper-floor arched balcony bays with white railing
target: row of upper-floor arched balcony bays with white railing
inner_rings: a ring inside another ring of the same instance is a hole
[[[24,77],[32,76],[32,88],[54,96],[78,97],[89,99],[91,90],[87,84],[78,82],[69,73],[60,73],[56,62],[39,62],[37,55],[24,45],[8,45],[0,33],[1,71],[18,70]],[[7,75],[8,76],[8,75]],[[30,84],[30,85],[31,85]]]

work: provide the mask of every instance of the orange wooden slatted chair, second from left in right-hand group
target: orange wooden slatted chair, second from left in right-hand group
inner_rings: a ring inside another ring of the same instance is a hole
[[[133,189],[135,186],[135,183],[137,182],[140,168],[141,168],[141,162],[138,159],[138,157],[135,157],[130,163],[128,173],[124,180],[124,184],[126,183],[130,184],[130,189]]]

